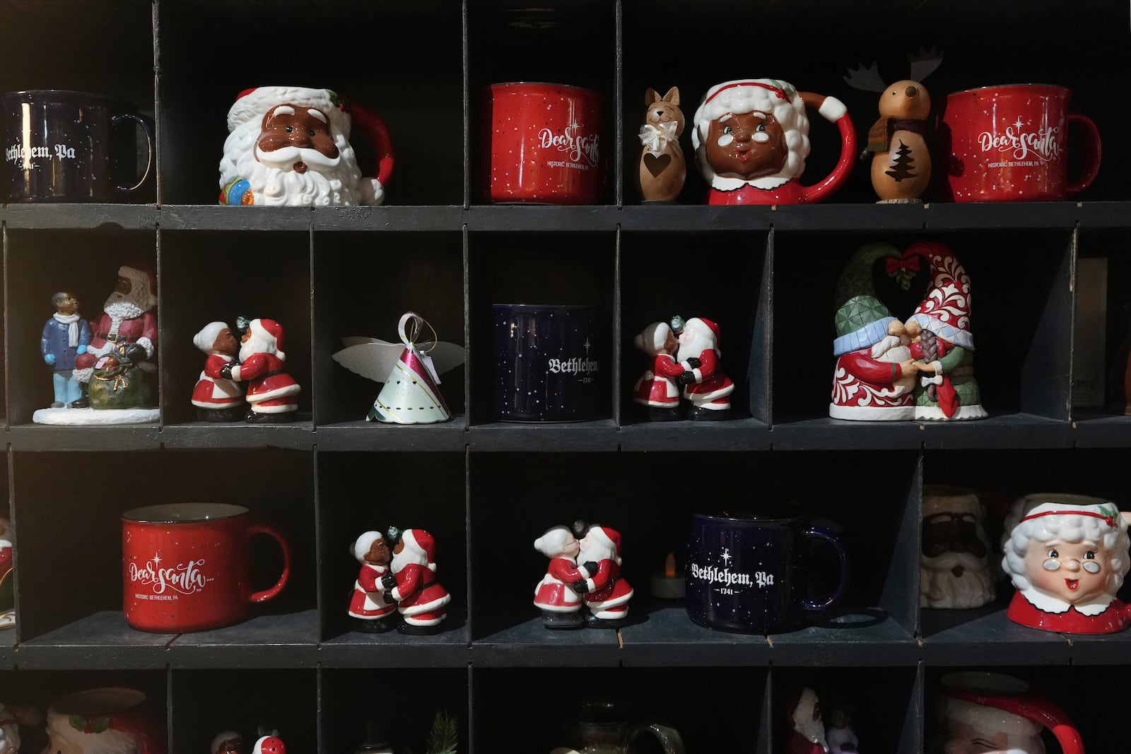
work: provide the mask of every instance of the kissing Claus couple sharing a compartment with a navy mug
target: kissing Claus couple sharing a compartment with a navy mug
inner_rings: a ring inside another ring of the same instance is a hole
[[[584,536],[578,539],[575,532]],[[578,521],[572,530],[550,528],[534,540],[534,548],[550,558],[546,575],[534,588],[543,625],[619,629],[627,623],[633,590],[621,575],[619,531]]]

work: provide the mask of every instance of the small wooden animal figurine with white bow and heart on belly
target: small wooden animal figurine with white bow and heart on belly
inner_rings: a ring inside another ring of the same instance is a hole
[[[645,123],[640,127],[640,197],[645,201],[675,201],[683,190],[688,165],[680,148],[683,111],[680,90],[672,87],[663,97],[649,88],[644,98]]]

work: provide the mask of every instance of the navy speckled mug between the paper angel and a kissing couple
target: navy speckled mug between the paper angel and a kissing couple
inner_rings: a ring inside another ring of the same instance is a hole
[[[598,307],[494,304],[493,310],[495,418],[595,418],[605,382]]]

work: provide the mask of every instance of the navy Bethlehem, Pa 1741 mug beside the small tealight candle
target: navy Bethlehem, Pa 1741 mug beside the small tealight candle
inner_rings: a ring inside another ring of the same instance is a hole
[[[809,540],[836,551],[840,581],[830,595],[809,595]],[[699,625],[740,633],[800,627],[804,610],[832,607],[848,584],[848,557],[832,531],[804,518],[691,517],[687,543],[687,608]]]

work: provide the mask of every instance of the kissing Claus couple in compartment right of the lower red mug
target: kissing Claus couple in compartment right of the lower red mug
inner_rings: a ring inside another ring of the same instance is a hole
[[[441,630],[451,595],[435,580],[432,535],[396,527],[385,534],[365,531],[351,552],[361,565],[348,608],[357,631],[380,633],[396,626],[405,634],[432,634]]]

